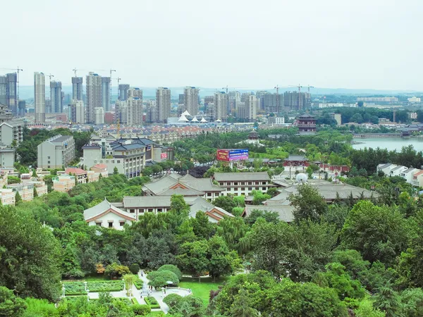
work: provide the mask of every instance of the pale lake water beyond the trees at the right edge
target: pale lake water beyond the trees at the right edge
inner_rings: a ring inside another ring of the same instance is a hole
[[[423,151],[423,139],[411,139],[411,138],[393,138],[393,139],[354,139],[360,144],[353,144],[354,149],[364,149],[364,147],[380,147],[381,149],[386,148],[389,151],[401,151],[401,148],[407,145],[412,145],[417,151]]]

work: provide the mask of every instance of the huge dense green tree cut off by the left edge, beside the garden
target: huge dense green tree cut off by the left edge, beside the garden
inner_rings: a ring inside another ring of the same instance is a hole
[[[51,231],[10,207],[0,207],[0,227],[1,283],[20,296],[57,299],[61,248]]]

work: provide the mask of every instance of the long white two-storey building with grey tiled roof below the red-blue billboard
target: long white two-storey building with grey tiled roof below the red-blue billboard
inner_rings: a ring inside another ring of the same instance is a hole
[[[224,190],[222,194],[225,196],[228,194],[247,196],[253,190],[265,193],[273,186],[267,172],[214,173],[213,178]]]

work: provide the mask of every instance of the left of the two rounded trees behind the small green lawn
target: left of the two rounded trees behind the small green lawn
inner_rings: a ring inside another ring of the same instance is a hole
[[[179,254],[176,256],[181,271],[197,275],[199,282],[201,275],[209,268],[208,247],[206,240],[185,242],[180,246]]]

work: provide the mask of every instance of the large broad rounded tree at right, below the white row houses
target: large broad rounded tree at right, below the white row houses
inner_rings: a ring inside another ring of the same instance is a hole
[[[360,251],[367,261],[390,264],[405,249],[405,220],[394,208],[359,201],[345,220],[341,240],[346,248]]]

